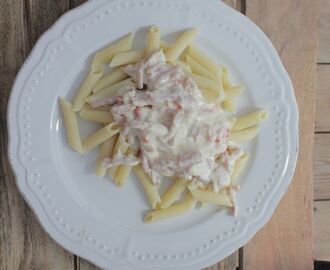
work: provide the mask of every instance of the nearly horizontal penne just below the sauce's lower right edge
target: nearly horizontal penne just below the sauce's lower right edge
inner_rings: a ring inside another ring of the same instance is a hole
[[[189,187],[188,187],[189,188]],[[210,190],[189,188],[191,195],[199,202],[213,203],[221,206],[232,207],[233,204],[227,194],[216,193]]]

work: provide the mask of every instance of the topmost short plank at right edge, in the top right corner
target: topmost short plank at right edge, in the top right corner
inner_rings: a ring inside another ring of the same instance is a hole
[[[320,0],[319,48],[317,61],[330,63],[330,1]]]

